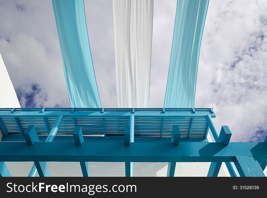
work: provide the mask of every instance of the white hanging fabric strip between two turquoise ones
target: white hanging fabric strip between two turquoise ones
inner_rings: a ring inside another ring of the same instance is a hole
[[[113,0],[119,108],[148,108],[153,0]]]

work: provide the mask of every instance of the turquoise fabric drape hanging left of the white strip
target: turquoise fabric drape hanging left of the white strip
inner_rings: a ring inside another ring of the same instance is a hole
[[[101,108],[84,2],[52,0],[71,107]]]

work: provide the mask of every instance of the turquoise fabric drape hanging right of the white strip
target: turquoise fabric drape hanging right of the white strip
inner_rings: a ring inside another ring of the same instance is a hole
[[[193,108],[208,0],[178,0],[165,108]]]

